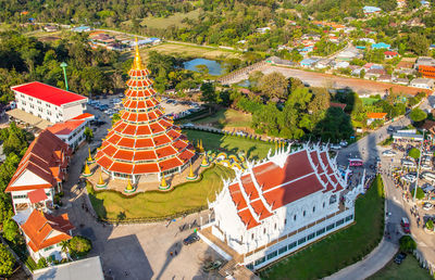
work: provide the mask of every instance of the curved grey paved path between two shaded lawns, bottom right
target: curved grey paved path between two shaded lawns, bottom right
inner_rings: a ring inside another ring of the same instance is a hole
[[[397,253],[399,246],[385,238],[362,260],[326,277],[326,280],[365,279],[382,269]]]

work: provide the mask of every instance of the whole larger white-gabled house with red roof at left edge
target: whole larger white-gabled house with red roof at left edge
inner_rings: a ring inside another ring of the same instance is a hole
[[[69,145],[49,130],[39,133],[4,191],[11,193],[15,214],[53,207],[54,193],[62,190],[71,154]]]

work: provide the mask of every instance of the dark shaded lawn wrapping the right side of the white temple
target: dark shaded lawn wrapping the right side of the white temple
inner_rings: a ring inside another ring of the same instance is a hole
[[[356,225],[308,246],[259,272],[263,279],[320,279],[360,260],[384,231],[384,186],[377,177],[356,203]]]

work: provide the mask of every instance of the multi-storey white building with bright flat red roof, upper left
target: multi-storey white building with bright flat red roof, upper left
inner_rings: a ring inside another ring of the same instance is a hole
[[[53,124],[82,115],[88,101],[85,97],[39,81],[11,89],[15,93],[17,109]]]

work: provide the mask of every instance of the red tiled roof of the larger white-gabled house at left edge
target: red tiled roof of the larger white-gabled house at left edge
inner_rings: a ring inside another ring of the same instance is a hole
[[[65,142],[51,133],[48,129],[44,130],[27,148],[5,192],[24,189],[41,189],[47,188],[48,184],[57,186],[57,182],[63,178],[63,173],[59,167],[67,165],[67,157],[71,153],[71,149]],[[53,167],[58,167],[59,169]],[[25,186],[14,186],[15,181],[25,171],[35,174],[47,181],[47,183],[34,184],[32,181],[28,181]]]

